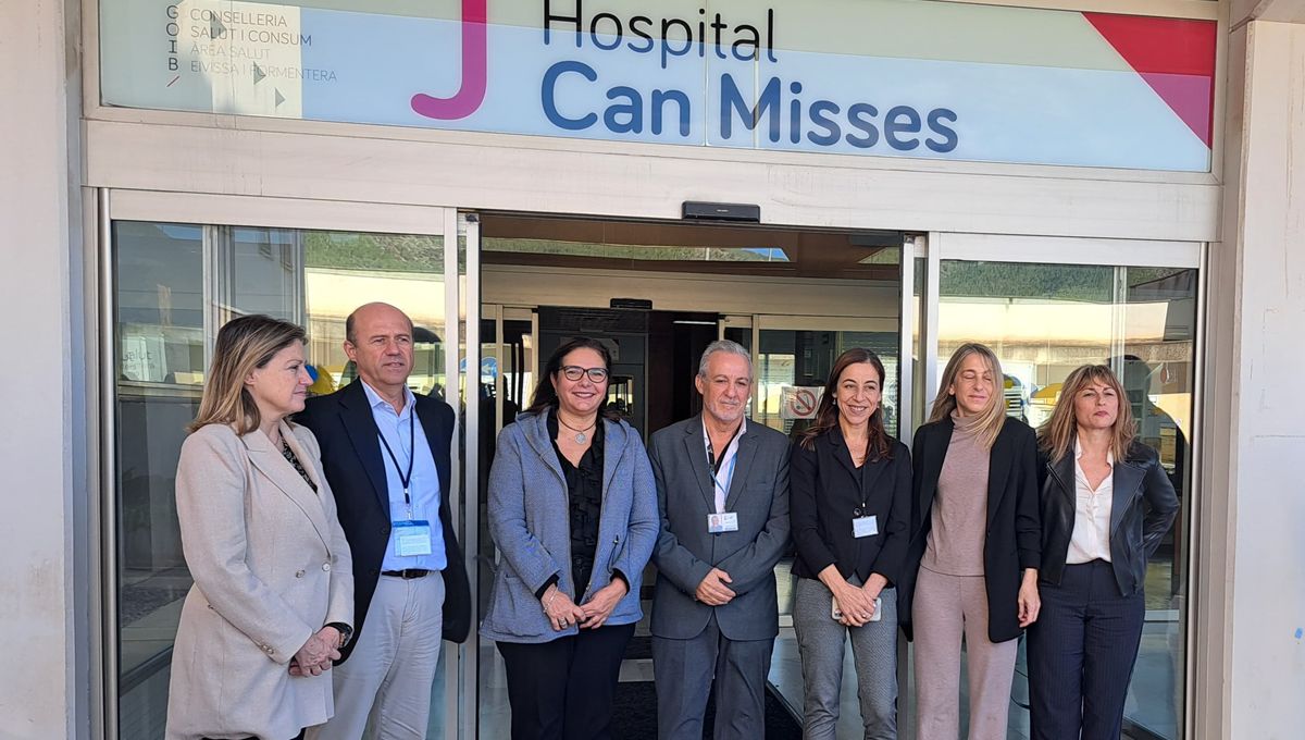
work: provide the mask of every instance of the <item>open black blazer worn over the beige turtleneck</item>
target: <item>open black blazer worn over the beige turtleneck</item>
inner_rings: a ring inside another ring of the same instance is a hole
[[[951,418],[946,418],[915,432],[911,544],[898,587],[898,621],[907,640],[912,638],[911,602],[933,525],[933,496],[951,442]],[[983,548],[988,640],[1005,642],[1019,637],[1019,581],[1024,568],[1037,568],[1040,561],[1037,442],[1027,424],[1007,418],[988,452],[988,531]]]

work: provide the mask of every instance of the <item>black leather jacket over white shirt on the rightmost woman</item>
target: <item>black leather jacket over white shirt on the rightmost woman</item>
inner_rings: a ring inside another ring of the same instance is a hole
[[[1129,445],[1122,461],[1114,461],[1111,478],[1114,487],[1111,497],[1111,566],[1120,594],[1130,596],[1142,590],[1146,561],[1155,555],[1178,516],[1178,496],[1160,467],[1160,455],[1138,441]],[[1043,565],[1037,579],[1060,585],[1078,510],[1073,450],[1054,463],[1040,452],[1037,479],[1043,516]]]

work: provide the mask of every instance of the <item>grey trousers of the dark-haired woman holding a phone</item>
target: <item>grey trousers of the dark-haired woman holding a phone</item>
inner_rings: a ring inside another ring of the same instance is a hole
[[[835,740],[843,653],[852,640],[856,696],[865,740],[897,739],[897,589],[881,594],[883,616],[864,626],[843,626],[830,616],[834,594],[814,578],[799,578],[793,630],[803,659],[803,737]]]

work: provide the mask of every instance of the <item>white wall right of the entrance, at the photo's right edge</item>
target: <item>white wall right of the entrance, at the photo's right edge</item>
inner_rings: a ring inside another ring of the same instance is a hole
[[[1295,740],[1305,732],[1305,25],[1235,31],[1229,77],[1197,711],[1202,737]]]

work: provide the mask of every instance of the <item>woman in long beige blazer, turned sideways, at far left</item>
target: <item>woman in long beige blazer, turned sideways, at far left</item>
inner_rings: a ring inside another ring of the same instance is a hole
[[[218,331],[176,469],[194,585],[172,649],[168,740],[290,740],[333,714],[354,577],[317,440],[287,420],[311,384],[299,326],[243,316]]]

